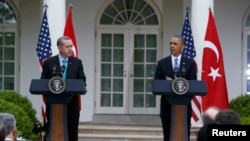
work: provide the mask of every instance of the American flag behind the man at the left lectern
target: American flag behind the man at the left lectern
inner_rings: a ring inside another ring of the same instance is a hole
[[[52,56],[51,50],[51,39],[50,39],[50,32],[49,32],[49,25],[48,25],[48,18],[47,18],[47,8],[44,11],[42,25],[40,28],[40,33],[37,42],[36,48],[37,57],[39,59],[40,68],[43,67],[44,60]],[[42,118],[43,121],[46,119],[46,99],[45,97],[42,98]]]

